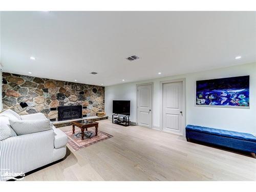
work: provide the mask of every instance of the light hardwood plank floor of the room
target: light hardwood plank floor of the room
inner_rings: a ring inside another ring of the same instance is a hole
[[[25,177],[25,181],[256,180],[256,159],[187,142],[182,136],[101,120],[114,137],[82,148]],[[61,127],[71,129],[71,126]],[[68,150],[68,151],[69,151]]]

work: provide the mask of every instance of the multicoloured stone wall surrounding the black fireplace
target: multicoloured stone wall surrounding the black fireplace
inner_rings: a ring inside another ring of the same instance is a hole
[[[44,113],[58,118],[58,106],[82,105],[84,116],[104,111],[104,87],[3,72],[3,109],[19,115]],[[19,103],[26,102],[22,108]]]

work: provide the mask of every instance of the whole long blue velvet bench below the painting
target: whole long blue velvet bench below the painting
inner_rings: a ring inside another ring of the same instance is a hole
[[[205,143],[225,146],[249,152],[256,158],[256,137],[248,133],[240,133],[227,130],[219,130],[204,126],[187,125],[186,139],[202,141]]]

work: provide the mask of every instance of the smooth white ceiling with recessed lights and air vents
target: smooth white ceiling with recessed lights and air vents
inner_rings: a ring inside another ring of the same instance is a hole
[[[256,12],[1,14],[5,72],[110,86],[256,61]]]

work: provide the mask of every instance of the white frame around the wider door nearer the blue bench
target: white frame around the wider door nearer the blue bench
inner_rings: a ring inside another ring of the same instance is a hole
[[[185,136],[185,126],[186,126],[186,79],[172,79],[166,81],[160,81],[160,130],[163,131],[163,84],[172,82],[182,82],[182,115],[183,115],[183,131],[182,136]],[[168,133],[168,132],[166,132]],[[175,133],[173,133],[175,134]],[[179,134],[177,134],[179,135]]]

